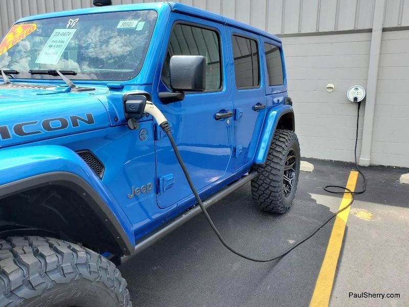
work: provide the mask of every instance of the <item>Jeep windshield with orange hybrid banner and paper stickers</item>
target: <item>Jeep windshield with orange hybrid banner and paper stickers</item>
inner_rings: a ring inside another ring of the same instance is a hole
[[[156,22],[153,10],[39,19],[14,25],[0,43],[0,69],[71,70],[70,79],[129,80],[139,74]]]

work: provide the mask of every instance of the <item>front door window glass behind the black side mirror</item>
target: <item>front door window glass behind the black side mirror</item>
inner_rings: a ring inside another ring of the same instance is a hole
[[[221,88],[220,39],[216,31],[177,24],[169,39],[162,81],[170,87],[169,62],[173,55],[202,55],[206,58],[206,90]]]

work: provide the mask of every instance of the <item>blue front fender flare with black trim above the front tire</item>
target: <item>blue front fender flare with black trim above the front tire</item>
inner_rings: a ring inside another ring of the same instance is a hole
[[[124,254],[133,252],[132,225],[115,198],[88,165],[69,148],[57,145],[0,150],[0,199],[20,190],[59,182],[76,186],[106,222]]]

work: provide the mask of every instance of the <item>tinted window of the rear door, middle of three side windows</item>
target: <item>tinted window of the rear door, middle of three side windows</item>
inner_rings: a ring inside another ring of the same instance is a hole
[[[256,87],[260,84],[257,42],[237,35],[232,36],[236,86]]]

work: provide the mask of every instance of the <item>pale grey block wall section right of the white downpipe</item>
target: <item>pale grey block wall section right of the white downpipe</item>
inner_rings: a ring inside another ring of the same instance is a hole
[[[409,31],[382,35],[371,163],[409,166]]]

